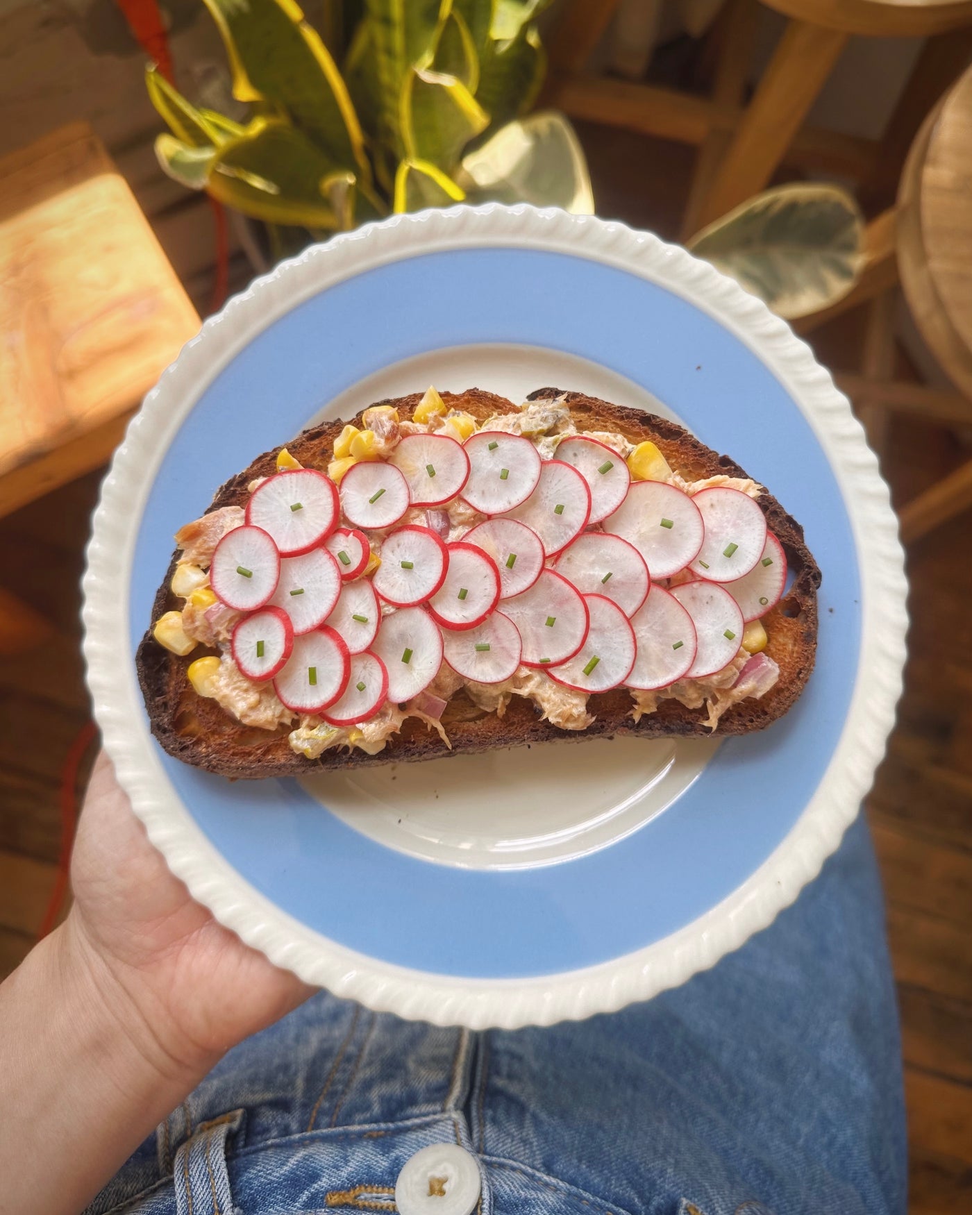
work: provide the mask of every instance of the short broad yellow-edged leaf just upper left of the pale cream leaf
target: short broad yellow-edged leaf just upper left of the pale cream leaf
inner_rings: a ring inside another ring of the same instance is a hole
[[[490,115],[456,77],[413,70],[402,92],[402,141],[406,156],[448,173],[465,145],[485,131]]]

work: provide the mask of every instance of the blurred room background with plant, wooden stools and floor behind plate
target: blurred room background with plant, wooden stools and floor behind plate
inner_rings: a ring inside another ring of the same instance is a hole
[[[972,0],[0,0],[0,974],[67,905],[98,482],[200,318],[394,211],[595,211],[790,320],[891,485],[911,1210],[972,1210],[971,58]]]

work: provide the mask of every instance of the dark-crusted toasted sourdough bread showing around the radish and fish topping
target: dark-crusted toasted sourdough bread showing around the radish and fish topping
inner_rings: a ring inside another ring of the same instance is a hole
[[[701,480],[718,474],[745,477],[747,474],[729,457],[719,456],[699,442],[683,426],[665,418],[609,405],[580,392],[563,392],[547,388],[533,392],[530,400],[564,397],[571,408],[577,430],[612,430],[625,435],[633,443],[651,440],[661,450],[673,469],[688,480]],[[518,407],[504,397],[468,389],[465,392],[443,392],[450,408],[464,409],[477,422],[497,413],[515,413]],[[409,419],[422,394],[378,402],[394,405],[402,420]],[[362,411],[363,412],[363,411]],[[362,425],[361,414],[352,419]],[[301,464],[326,469],[335,437],[343,422],[326,422],[311,426],[287,445],[288,451]],[[228,505],[245,505],[249,497],[247,486],[255,477],[275,471],[276,451],[265,452],[224,485],[213,499],[210,510]],[[767,522],[780,539],[793,575],[791,589],[785,598],[763,617],[769,643],[767,654],[780,668],[778,683],[759,700],[746,699],[729,708],[718,723],[717,733],[746,734],[763,729],[781,717],[799,696],[813,669],[816,650],[816,588],[820,571],[803,542],[803,529],[780,503],[763,493],[757,499],[767,516]],[[188,522],[188,520],[186,520]],[[152,611],[152,620],[163,612],[181,606],[171,594],[169,583],[175,571],[179,553],[174,553],[165,580],[159,587]],[[542,720],[532,701],[513,696],[505,714],[477,708],[459,690],[442,713],[442,725],[452,742],[448,752],[439,735],[417,718],[408,718],[399,734],[392,735],[385,748],[369,756],[358,748],[346,747],[324,751],[318,759],[307,759],[290,750],[288,729],[281,727],[271,733],[241,725],[214,701],[200,697],[190,684],[186,669],[191,661],[207,652],[197,649],[188,657],[179,657],[163,649],[146,632],[137,651],[139,679],[152,723],[152,733],[162,746],[186,763],[230,778],[296,776],[309,775],[328,768],[350,768],[364,764],[384,764],[403,761],[430,759],[445,755],[464,755],[492,747],[525,746],[553,740],[581,742],[584,739],[611,735],[639,735],[645,739],[660,736],[710,736],[705,725],[706,710],[685,708],[677,700],[662,700],[656,712],[645,713],[639,722],[632,717],[632,696],[625,688],[593,695],[588,711],[594,722],[586,730],[567,731]],[[215,652],[215,651],[209,651]]]

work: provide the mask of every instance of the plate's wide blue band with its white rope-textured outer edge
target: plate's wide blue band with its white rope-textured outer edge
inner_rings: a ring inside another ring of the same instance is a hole
[[[724,744],[637,832],[518,871],[433,865],[354,831],[295,781],[231,785],[188,768],[148,739],[141,705],[134,728],[130,688],[119,728],[118,672],[132,666],[171,535],[215,486],[383,366],[485,343],[561,350],[627,377],[801,520],[824,586],[818,668],[790,714]],[[118,482],[135,493],[146,463],[139,509],[130,501],[119,518]],[[125,554],[113,570],[112,530]],[[106,686],[109,586],[125,618]],[[435,1021],[583,1016],[711,965],[836,847],[900,680],[904,580],[887,491],[807,347],[683,250],[530,208],[396,217],[309,250],[227,305],[163,377],[115,458],[85,592],[106,745],[175,871],[275,961]],[[360,979],[347,978],[349,959]]]

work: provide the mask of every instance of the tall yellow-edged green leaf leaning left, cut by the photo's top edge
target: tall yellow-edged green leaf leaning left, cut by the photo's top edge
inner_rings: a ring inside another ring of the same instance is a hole
[[[233,96],[282,107],[334,164],[356,168],[367,180],[371,170],[347,89],[295,0],[204,2],[226,45]]]

